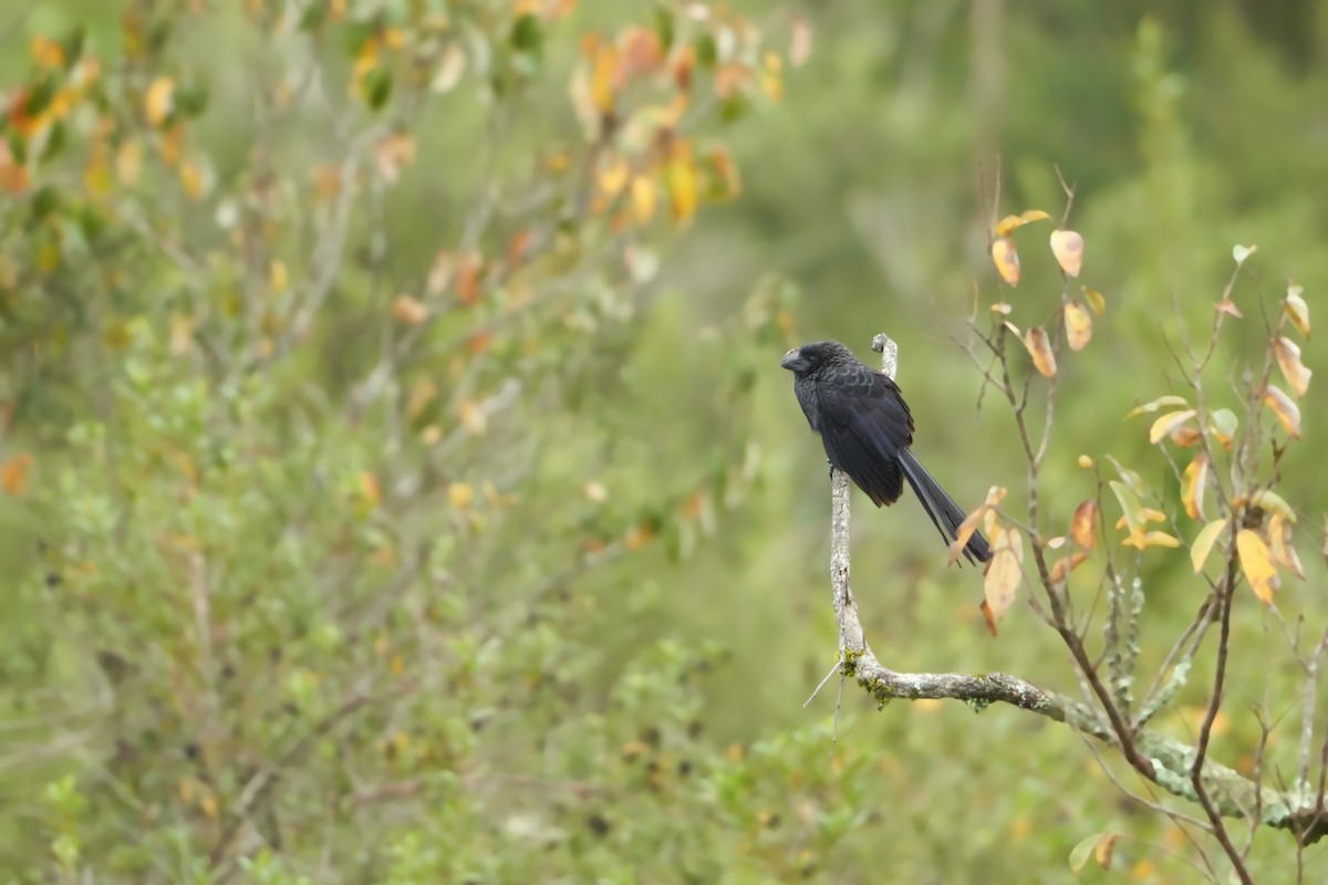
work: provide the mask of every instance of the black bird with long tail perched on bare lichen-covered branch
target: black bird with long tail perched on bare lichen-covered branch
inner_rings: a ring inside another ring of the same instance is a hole
[[[899,500],[907,479],[946,543],[959,537],[964,511],[908,450],[912,415],[894,379],[838,341],[794,348],[780,365],[793,372],[798,405],[821,434],[831,467],[849,474],[876,507]],[[968,539],[964,556],[969,563],[992,557],[981,532]]]

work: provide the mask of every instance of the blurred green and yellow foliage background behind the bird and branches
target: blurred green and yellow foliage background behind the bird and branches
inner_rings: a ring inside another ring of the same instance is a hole
[[[663,54],[602,80],[633,40]],[[835,691],[802,706],[829,490],[778,361],[887,332],[923,462],[1017,508],[961,342],[993,215],[1058,218],[1058,167],[1108,310],[1062,368],[1049,524],[1084,452],[1174,502],[1123,415],[1174,389],[1232,245],[1232,377],[1260,303],[1328,285],[1323,4],[41,0],[0,41],[7,881],[1060,882],[1106,831],[1084,880],[1202,878],[1019,711],[850,686],[831,759]],[[1058,303],[1048,230],[1016,234],[1021,324]],[[1317,520],[1303,410],[1283,471]],[[855,507],[888,666],[1078,691],[1024,606],[987,636],[915,502]],[[1155,659],[1206,589],[1183,549],[1143,573]],[[1248,768],[1244,699],[1297,683],[1238,620],[1214,752]],[[1288,852],[1255,837],[1260,881]]]

